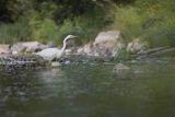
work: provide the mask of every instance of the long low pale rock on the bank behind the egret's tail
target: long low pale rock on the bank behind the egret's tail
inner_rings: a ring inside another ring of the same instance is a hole
[[[38,42],[16,43],[11,47],[12,52],[35,52],[46,48],[45,45]]]

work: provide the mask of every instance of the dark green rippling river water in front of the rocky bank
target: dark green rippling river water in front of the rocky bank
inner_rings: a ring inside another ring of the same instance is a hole
[[[0,71],[0,117],[175,117],[175,59]]]

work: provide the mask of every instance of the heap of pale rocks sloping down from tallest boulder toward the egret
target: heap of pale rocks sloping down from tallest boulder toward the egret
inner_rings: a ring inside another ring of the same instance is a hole
[[[78,55],[95,57],[116,57],[125,48],[119,31],[102,32],[95,40],[80,47]]]

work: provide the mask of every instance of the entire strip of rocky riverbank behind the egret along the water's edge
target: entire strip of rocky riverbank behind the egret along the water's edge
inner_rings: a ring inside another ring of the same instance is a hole
[[[45,48],[57,47],[54,43],[48,45],[40,44],[39,42],[23,42],[14,45],[0,45],[0,66],[12,65],[46,65],[40,57],[35,52]],[[118,59],[122,56],[128,58],[144,58],[152,56],[175,55],[175,48],[159,47],[149,48],[147,42],[141,42],[139,38],[126,43],[121,38],[119,31],[107,31],[100,33],[94,42],[90,42],[83,46],[73,46],[67,48],[65,58],[70,56],[86,56],[95,58],[96,60],[105,61],[105,59]],[[59,61],[62,61],[60,59]]]

